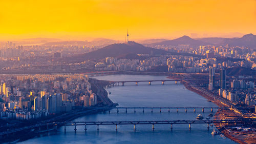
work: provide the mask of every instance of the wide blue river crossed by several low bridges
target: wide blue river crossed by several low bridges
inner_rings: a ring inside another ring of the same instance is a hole
[[[107,75],[95,77],[101,80],[160,80],[167,79],[166,76],[151,76],[151,75]],[[119,107],[217,107],[214,103],[208,102],[204,97],[191,92],[184,88],[184,85],[176,85],[174,81],[153,82],[148,83],[125,83],[125,86],[116,86],[106,89],[109,97],[114,102],[119,104]],[[216,112],[216,110],[214,111]],[[114,121],[114,120],[177,120],[191,119],[194,120],[198,114],[206,117],[210,113],[209,110],[111,110],[110,113],[98,113],[79,117],[74,121]],[[169,125],[155,125],[155,130],[152,130],[151,125],[137,125],[136,131],[133,125],[118,126],[118,131],[114,125],[99,126],[97,131],[96,126],[88,126],[87,132],[84,132],[84,126],[77,126],[77,132],[74,132],[74,127],[67,127],[66,133],[61,127],[57,132],[40,135],[33,139],[29,139],[20,143],[235,143],[228,138],[223,138],[220,135],[212,136],[213,130],[210,127],[207,130],[206,124],[191,125],[191,130],[188,125],[173,125],[173,130]]]

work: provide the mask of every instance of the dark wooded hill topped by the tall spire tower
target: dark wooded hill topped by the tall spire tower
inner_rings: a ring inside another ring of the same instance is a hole
[[[73,55],[70,57],[65,57],[66,61],[84,61],[84,60],[99,60],[103,59],[105,57],[129,57],[131,59],[136,58],[136,54],[154,54],[154,55],[165,55],[165,54],[174,54],[174,55],[184,55],[184,56],[198,56],[202,57],[200,55],[194,55],[194,54],[188,54],[188,53],[173,53],[173,52],[167,52],[165,50],[159,50],[154,49],[150,47],[145,47],[141,44],[131,42],[129,43],[123,43],[123,44],[112,44],[109,46],[106,46],[104,48],[98,49],[93,52],[84,53],[84,54],[78,54]]]

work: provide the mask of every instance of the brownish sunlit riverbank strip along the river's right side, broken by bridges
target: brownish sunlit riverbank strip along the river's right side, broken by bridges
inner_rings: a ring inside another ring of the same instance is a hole
[[[179,79],[180,77],[177,77],[175,75],[173,76],[168,76],[168,78],[171,79]],[[193,86],[191,83],[188,81],[181,81],[181,83],[186,87],[186,89],[193,91],[204,98],[208,99],[211,102],[214,102],[217,106],[221,107],[229,107],[228,105],[224,104],[220,100],[216,100],[214,97],[212,97],[212,93],[206,92],[205,90],[198,88],[196,86]],[[221,119],[234,119],[234,118],[239,118],[243,117],[241,114],[236,113],[230,109],[221,109],[218,110],[214,116],[215,120],[221,120]],[[241,144],[246,144],[246,143],[256,143],[256,131],[249,131],[249,132],[241,132],[241,131],[236,131],[236,130],[228,130],[226,127],[228,125],[217,125],[215,124],[215,127],[223,133],[227,138],[241,143]]]

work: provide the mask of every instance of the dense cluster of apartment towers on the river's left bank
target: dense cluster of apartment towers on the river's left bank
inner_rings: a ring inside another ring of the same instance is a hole
[[[1,117],[40,118],[98,104],[84,74],[0,75]]]

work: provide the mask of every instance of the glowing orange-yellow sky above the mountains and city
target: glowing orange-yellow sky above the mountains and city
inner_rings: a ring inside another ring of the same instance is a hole
[[[0,0],[0,39],[256,34],[256,0]],[[238,33],[236,33],[238,32]]]

